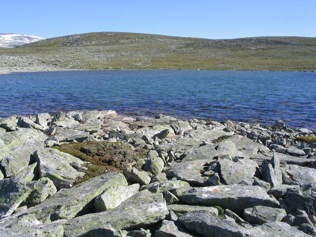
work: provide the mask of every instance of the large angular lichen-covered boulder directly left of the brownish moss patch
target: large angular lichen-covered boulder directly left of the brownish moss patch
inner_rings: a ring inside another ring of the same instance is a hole
[[[53,181],[56,188],[70,188],[84,173],[77,169],[86,162],[57,149],[45,148],[35,153],[40,177]]]

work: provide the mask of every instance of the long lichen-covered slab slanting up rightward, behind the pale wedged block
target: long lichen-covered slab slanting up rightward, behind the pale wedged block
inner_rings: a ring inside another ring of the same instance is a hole
[[[116,186],[127,186],[124,175],[117,172],[104,174],[70,189],[62,189],[40,204],[19,213],[19,215],[33,214],[42,222],[58,219],[69,220],[76,215],[92,211],[93,206],[89,205],[91,200],[98,197],[107,188]]]

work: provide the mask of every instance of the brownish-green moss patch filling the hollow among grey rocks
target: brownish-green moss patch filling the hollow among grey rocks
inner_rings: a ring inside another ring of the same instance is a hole
[[[140,169],[142,163],[138,160],[145,158],[148,152],[145,149],[133,151],[126,144],[119,142],[78,142],[53,148],[91,163],[91,165],[86,165],[87,170],[84,171],[84,177],[77,180],[76,184],[106,172],[120,172],[131,165]]]

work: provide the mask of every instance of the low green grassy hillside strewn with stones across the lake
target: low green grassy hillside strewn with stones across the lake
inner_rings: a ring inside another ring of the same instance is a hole
[[[0,68],[316,70],[316,38],[207,40],[134,33],[88,33],[0,48]],[[21,70],[21,69],[25,70]]]

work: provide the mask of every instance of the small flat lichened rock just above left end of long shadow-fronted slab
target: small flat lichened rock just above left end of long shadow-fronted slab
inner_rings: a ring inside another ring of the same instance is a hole
[[[190,188],[189,183],[181,180],[166,180],[151,183],[142,189],[148,189],[152,193],[162,192],[164,190],[172,192],[176,189]]]

